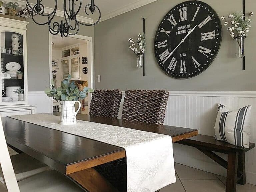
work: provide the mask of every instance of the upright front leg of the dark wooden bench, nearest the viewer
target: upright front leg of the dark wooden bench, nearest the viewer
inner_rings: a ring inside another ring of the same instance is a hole
[[[226,192],[236,192],[238,153],[228,154]]]

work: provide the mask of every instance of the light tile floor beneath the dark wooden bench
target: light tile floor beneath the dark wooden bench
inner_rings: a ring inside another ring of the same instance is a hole
[[[226,177],[175,163],[177,182],[160,192],[225,192]],[[237,184],[237,192],[256,192],[256,185]]]

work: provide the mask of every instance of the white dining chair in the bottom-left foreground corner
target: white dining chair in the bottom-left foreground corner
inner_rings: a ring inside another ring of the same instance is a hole
[[[17,182],[8,152],[2,120],[0,118],[0,179],[1,192],[83,192],[64,175],[55,170],[44,171]]]

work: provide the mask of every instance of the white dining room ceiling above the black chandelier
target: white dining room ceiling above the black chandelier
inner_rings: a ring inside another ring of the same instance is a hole
[[[13,0],[3,0],[3,2],[11,2]],[[36,3],[36,0],[28,0],[31,4]],[[102,14],[101,21],[110,19],[112,17],[115,17],[117,15],[123,14],[125,12],[131,11],[133,9],[136,9],[138,7],[144,6],[146,4],[152,3],[157,0],[94,0],[94,4],[97,5]],[[26,4],[25,0],[16,0],[16,2],[19,2],[20,5],[24,6]],[[63,11],[63,1],[59,1],[57,9],[60,11]],[[68,2],[68,1],[67,1]],[[84,7],[89,4],[90,0],[82,0],[82,9],[80,10],[80,16],[83,17],[89,17],[94,20],[98,18],[98,12],[96,11],[93,15],[86,15],[83,11]],[[54,8],[55,1],[54,0],[44,0],[41,2],[45,7]],[[79,4],[80,0],[76,2],[76,4]]]

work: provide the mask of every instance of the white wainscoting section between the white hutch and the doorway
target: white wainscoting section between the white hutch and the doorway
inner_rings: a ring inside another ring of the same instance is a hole
[[[37,113],[52,112],[52,98],[48,97],[44,91],[29,91],[28,104],[37,106]]]

